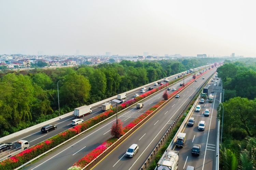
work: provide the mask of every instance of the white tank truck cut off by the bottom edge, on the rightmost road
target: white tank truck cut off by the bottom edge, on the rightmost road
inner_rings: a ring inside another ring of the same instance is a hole
[[[157,170],[177,170],[179,163],[179,151],[166,150],[157,163]]]

